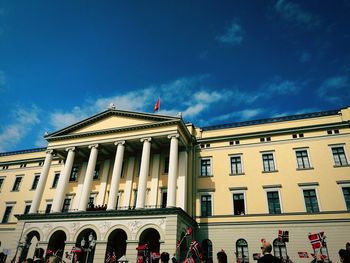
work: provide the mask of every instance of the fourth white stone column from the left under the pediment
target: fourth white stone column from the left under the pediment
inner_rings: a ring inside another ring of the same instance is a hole
[[[107,210],[116,209],[116,202],[117,202],[117,197],[119,192],[119,182],[120,182],[120,177],[122,173],[124,149],[125,149],[125,146],[124,146],[125,141],[115,142],[114,144],[117,145],[117,152],[115,154],[115,161],[113,166],[111,187],[109,189]]]

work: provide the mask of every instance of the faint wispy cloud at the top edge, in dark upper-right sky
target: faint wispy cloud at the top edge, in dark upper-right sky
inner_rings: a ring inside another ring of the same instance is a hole
[[[278,0],[275,4],[275,10],[281,18],[298,26],[312,29],[321,25],[321,19],[318,15],[304,10],[293,1]]]

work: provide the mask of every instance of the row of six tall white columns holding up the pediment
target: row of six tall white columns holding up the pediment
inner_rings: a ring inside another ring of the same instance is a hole
[[[167,196],[167,207],[176,206],[176,177],[177,177],[177,167],[178,167],[178,134],[169,135],[170,139],[170,155],[169,155],[169,173],[168,173],[168,196]],[[142,156],[141,156],[141,166],[137,190],[136,199],[136,209],[145,207],[146,191],[147,191],[147,176],[149,171],[150,155],[151,155],[151,138],[143,138],[141,142],[143,143]],[[115,154],[115,162],[112,172],[112,180],[110,186],[110,193],[107,202],[107,210],[114,210],[116,207],[118,192],[119,192],[119,182],[122,173],[125,141],[115,142],[117,147]],[[80,200],[78,200],[78,210],[86,211],[88,200],[91,193],[91,186],[93,175],[95,171],[97,155],[98,155],[98,144],[90,145],[90,156],[87,164],[86,174],[84,178],[83,188],[80,195]],[[69,182],[69,177],[72,171],[74,157],[75,157],[75,147],[66,149],[68,154],[64,168],[61,172],[57,189],[54,195],[52,212],[61,212],[62,205],[65,198],[65,189]],[[37,213],[42,199],[42,195],[45,189],[48,173],[50,170],[50,165],[53,157],[53,151],[49,150],[46,152],[45,162],[40,174],[40,179],[38,182],[37,189],[34,194],[34,199],[29,213]]]

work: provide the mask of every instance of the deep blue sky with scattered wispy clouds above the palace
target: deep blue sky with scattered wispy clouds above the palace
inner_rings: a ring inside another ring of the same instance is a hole
[[[0,0],[0,152],[113,102],[197,126],[350,105],[350,0]]]

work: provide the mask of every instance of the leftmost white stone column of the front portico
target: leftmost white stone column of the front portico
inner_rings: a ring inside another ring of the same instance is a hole
[[[46,181],[47,181],[47,176],[49,174],[49,170],[50,170],[50,166],[51,166],[51,161],[52,161],[52,157],[53,157],[52,153],[53,153],[53,150],[48,150],[46,152],[45,162],[44,162],[43,168],[41,170],[38,186],[35,190],[32,205],[30,206],[30,210],[29,210],[30,214],[34,214],[34,213],[38,212],[40,201],[41,201],[41,198],[42,198],[43,193],[44,193],[44,189],[45,189],[45,185],[46,185]]]

